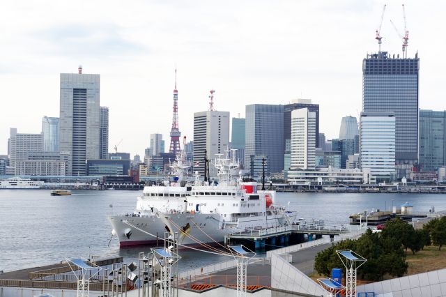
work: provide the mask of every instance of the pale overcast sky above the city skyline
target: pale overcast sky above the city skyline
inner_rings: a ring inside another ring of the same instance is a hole
[[[245,116],[245,105],[311,98],[320,132],[337,138],[342,116],[362,109],[362,59],[401,53],[399,1],[95,0],[0,1],[0,154],[9,128],[39,133],[59,116],[59,74],[98,73],[109,107],[109,151],[144,155],[150,134],[169,145],[174,70],[180,131],[214,107]],[[408,56],[420,57],[420,108],[446,109],[446,2],[406,1]]]

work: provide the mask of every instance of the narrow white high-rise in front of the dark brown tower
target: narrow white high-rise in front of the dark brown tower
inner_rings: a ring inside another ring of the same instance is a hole
[[[316,167],[316,112],[308,108],[291,112],[291,169]]]

